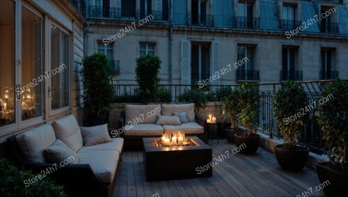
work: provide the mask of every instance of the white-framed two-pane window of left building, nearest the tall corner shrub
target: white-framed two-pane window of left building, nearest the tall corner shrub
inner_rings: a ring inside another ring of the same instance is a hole
[[[51,24],[51,70],[50,115],[54,115],[70,106],[70,36],[55,24]]]

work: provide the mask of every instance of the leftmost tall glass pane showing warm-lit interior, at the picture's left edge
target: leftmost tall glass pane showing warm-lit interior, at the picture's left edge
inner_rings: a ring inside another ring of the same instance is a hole
[[[0,1],[0,127],[15,123],[15,3]]]

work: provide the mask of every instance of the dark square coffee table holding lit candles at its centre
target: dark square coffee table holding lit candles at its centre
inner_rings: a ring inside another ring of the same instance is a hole
[[[196,145],[157,148],[152,141],[160,138],[143,138],[146,180],[175,180],[212,177],[212,167],[203,173],[196,168],[212,162],[212,148],[190,136]]]

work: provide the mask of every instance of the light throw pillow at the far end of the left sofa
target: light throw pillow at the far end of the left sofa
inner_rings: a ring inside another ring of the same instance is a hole
[[[94,127],[81,127],[81,134],[84,136],[84,143],[86,146],[111,142],[111,137],[108,132],[108,124],[97,125]]]

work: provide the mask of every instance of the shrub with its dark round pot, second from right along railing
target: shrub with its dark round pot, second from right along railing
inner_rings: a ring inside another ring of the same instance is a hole
[[[274,147],[276,159],[287,171],[301,171],[306,165],[309,148],[297,145],[303,132],[303,123],[309,118],[307,93],[301,84],[288,81],[282,85],[274,98],[274,116],[278,122],[284,143]]]

